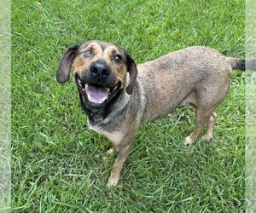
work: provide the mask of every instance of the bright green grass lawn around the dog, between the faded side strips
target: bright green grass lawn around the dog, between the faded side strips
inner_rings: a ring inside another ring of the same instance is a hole
[[[244,57],[244,1],[12,1],[14,212],[242,212],[245,74],[218,107],[214,142],[185,149],[194,111],[137,132],[118,187],[110,143],[88,130],[73,81],[55,72],[67,47],[117,43],[137,62],[192,45]]]

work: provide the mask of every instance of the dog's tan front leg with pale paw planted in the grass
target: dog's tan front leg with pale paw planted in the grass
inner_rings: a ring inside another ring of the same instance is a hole
[[[113,164],[112,174],[108,180],[108,187],[116,186],[119,183],[120,173],[125,163],[125,159],[131,150],[133,137],[127,137],[119,144],[114,144],[116,151],[118,152],[117,158],[115,158]]]

